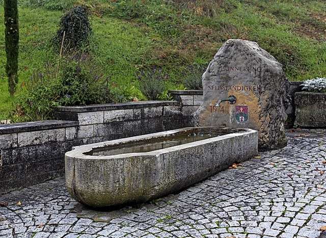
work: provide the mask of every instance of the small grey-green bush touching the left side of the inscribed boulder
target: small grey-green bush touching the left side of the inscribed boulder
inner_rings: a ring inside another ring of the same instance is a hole
[[[206,68],[194,65],[188,66],[185,70],[182,71],[182,76],[184,78],[183,84],[188,90],[202,90],[203,81],[202,75],[205,72]]]

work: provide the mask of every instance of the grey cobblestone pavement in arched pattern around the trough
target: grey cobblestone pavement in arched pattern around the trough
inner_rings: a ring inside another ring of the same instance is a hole
[[[113,210],[78,204],[63,177],[5,194],[0,237],[326,237],[326,138],[297,135],[259,155],[179,194]]]

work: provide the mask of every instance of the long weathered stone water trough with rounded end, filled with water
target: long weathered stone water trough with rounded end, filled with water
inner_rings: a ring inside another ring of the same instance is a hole
[[[66,186],[78,202],[105,207],[180,191],[258,153],[252,129],[187,127],[73,147]]]

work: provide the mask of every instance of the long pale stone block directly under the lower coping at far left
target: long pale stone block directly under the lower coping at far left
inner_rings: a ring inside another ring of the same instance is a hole
[[[18,147],[65,140],[65,128],[18,133]]]

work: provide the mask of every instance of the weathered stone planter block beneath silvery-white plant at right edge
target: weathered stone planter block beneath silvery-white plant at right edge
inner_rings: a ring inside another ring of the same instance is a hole
[[[326,127],[326,93],[295,93],[294,125],[301,127]]]

